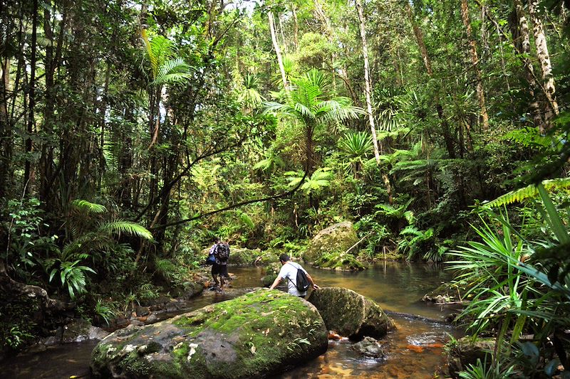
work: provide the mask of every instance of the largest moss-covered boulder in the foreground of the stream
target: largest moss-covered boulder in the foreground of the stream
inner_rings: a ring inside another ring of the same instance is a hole
[[[94,378],[268,378],[326,351],[323,319],[308,301],[258,289],[95,346]]]

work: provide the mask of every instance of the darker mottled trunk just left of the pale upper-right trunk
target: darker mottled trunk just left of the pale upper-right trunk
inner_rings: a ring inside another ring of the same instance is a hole
[[[524,15],[524,10],[522,9],[522,4],[520,0],[514,0],[514,8],[516,15],[516,22],[513,26],[514,31],[514,44],[518,45],[517,50],[521,54],[522,63],[524,65],[524,76],[527,78],[529,83],[529,95],[531,97],[530,108],[532,112],[532,118],[534,120],[534,126],[539,127],[541,133],[544,133],[544,122],[540,112],[539,102],[535,95],[535,90],[537,88],[537,80],[534,76],[534,68],[532,67],[532,62],[529,58],[530,56],[530,33],[529,24],[527,23],[527,17]]]

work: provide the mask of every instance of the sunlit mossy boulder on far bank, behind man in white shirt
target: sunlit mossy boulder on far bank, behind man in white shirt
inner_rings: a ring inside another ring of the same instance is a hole
[[[332,269],[363,269],[364,266],[355,258],[358,250],[346,254],[358,242],[354,225],[348,221],[329,226],[321,230],[309,244],[303,256],[304,260],[318,267]]]

